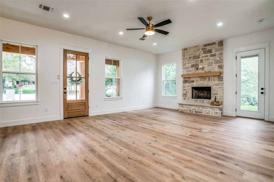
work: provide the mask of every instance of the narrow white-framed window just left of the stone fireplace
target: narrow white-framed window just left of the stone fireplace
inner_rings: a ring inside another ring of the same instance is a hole
[[[176,96],[176,63],[163,65],[163,96]]]

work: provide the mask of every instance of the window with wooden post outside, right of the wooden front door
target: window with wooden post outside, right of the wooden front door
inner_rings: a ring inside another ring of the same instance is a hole
[[[121,60],[105,60],[105,97],[121,97]]]

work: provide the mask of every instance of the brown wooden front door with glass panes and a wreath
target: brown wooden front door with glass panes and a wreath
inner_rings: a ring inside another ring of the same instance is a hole
[[[88,116],[88,53],[64,49],[64,118]]]

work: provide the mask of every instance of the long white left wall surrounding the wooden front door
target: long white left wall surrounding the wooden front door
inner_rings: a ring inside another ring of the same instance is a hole
[[[89,64],[90,115],[156,106],[156,55],[5,18],[0,19],[0,27],[1,39],[38,45],[40,100],[39,105],[0,107],[1,127],[60,119],[60,80],[58,84],[50,84],[51,79],[62,75],[60,43],[92,49]],[[123,59],[122,100],[104,100],[106,56]],[[45,107],[49,112],[45,112]]]

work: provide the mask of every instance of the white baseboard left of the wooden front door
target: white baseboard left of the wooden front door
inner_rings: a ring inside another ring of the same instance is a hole
[[[48,117],[31,118],[31,119],[25,119],[25,120],[3,121],[3,122],[0,122],[0,127],[16,126],[16,125],[30,124],[30,123],[40,123],[40,122],[54,121],[54,120],[60,120],[60,116],[48,116]]]

